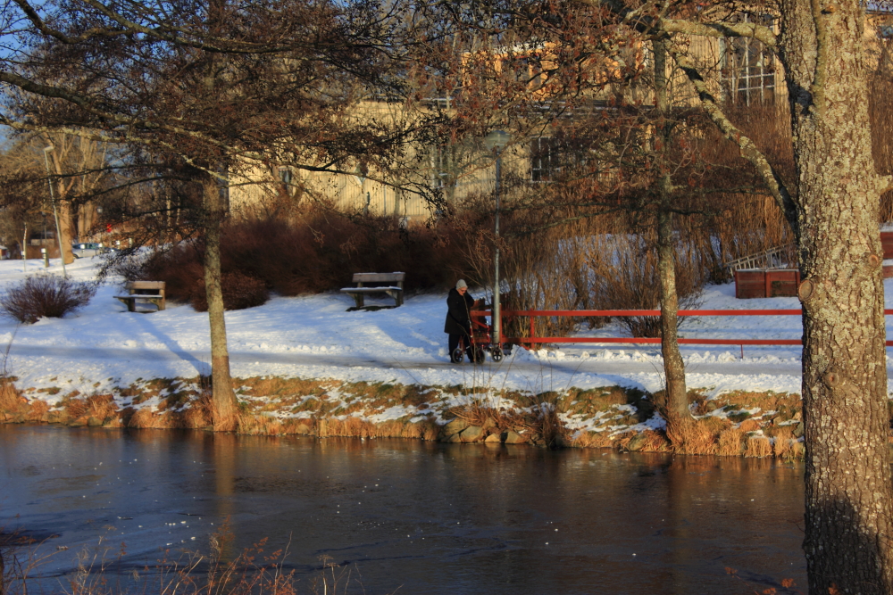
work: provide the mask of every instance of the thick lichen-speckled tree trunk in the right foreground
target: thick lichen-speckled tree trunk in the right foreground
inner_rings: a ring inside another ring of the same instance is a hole
[[[809,592],[893,593],[881,178],[858,0],[783,0],[804,277]]]

